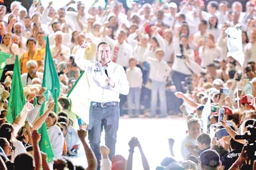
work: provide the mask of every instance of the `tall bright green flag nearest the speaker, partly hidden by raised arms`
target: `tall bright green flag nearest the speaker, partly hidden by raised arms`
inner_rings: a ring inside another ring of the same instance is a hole
[[[56,71],[55,65],[52,60],[52,54],[50,51],[49,38],[47,37],[45,48],[45,65],[43,71],[43,81],[42,87],[45,88],[45,101],[49,100],[49,95],[55,101],[54,111],[58,113],[58,96],[60,94],[60,81],[58,79],[58,73]],[[40,109],[40,115],[44,112],[44,106],[42,105]],[[42,127],[39,129],[39,133],[42,135],[39,146],[40,150],[47,153],[47,161],[52,161],[54,154],[52,151],[52,146],[50,145],[50,140],[47,133],[46,124],[43,123]]]

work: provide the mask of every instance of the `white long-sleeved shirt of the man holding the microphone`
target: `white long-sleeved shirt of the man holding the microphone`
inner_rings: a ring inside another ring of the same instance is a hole
[[[126,73],[121,65],[108,63],[107,75],[105,69],[99,61],[85,60],[83,55],[86,48],[79,48],[76,51],[75,63],[88,74],[90,87],[89,98],[94,102],[119,102],[119,94],[127,95],[129,93],[129,82]],[[107,76],[115,83],[114,87],[106,83]]]

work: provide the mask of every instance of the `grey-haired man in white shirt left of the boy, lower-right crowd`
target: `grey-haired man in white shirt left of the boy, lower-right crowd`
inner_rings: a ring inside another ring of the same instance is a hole
[[[188,135],[181,141],[181,155],[186,159],[191,154],[198,155],[198,142],[196,138],[201,133],[201,124],[198,119],[188,120]]]

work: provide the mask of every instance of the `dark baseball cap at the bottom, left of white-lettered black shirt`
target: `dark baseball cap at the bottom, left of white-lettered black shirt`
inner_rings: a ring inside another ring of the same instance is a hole
[[[209,168],[217,168],[219,166],[219,154],[215,150],[205,150],[200,154],[201,164]]]

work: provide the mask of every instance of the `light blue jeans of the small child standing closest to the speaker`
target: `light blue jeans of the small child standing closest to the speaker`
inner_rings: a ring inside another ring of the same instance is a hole
[[[127,95],[130,116],[139,116],[140,114],[140,92],[140,87],[130,87],[129,94]],[[133,105],[135,105],[135,114],[132,114]]]

